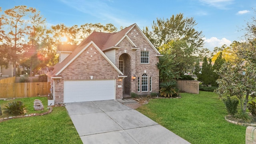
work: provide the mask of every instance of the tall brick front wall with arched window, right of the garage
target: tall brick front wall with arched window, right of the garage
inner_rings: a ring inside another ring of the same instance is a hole
[[[134,92],[139,95],[148,95],[152,92],[159,92],[159,70],[156,64],[159,62],[159,58],[156,56],[157,52],[150,46],[148,41],[140,34],[139,30],[134,27],[128,34],[128,37],[134,42],[134,44],[140,48],[138,50],[132,50],[132,44],[129,42],[127,38],[124,38],[122,42],[118,44],[120,46],[119,49],[116,50],[116,66],[119,65],[119,57],[122,54],[126,54],[130,58],[130,70],[125,73],[128,77],[124,79],[124,87],[130,87],[130,92]],[[149,64],[140,64],[140,52],[149,51]],[[126,50],[126,53],[124,52]],[[127,68],[127,66],[126,66]],[[125,68],[124,68],[125,69]],[[126,70],[124,70],[126,71]],[[152,77],[152,91],[142,92],[141,90],[141,77],[142,74],[148,75],[148,85],[149,78]],[[136,80],[132,81],[132,76],[136,76]],[[140,92],[138,92],[138,77],[140,77]]]

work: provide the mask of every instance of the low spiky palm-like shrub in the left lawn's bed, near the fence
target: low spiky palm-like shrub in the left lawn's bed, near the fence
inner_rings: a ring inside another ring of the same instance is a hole
[[[4,113],[9,113],[9,114],[24,114],[25,111],[25,105],[23,105],[23,102],[21,101],[16,101],[16,102],[12,102],[9,103],[8,106],[5,106],[6,108],[4,108]]]

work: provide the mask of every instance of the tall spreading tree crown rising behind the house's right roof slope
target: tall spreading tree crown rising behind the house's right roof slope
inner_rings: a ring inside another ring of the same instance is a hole
[[[184,18],[183,14],[172,15],[170,19],[157,18],[153,21],[152,31],[148,27],[143,32],[156,48],[172,40],[186,41],[188,46],[199,48],[203,46],[202,31],[198,32],[194,18]]]

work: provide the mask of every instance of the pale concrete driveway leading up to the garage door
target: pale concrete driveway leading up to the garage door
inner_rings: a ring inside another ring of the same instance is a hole
[[[117,100],[66,103],[66,109],[84,144],[190,144]]]

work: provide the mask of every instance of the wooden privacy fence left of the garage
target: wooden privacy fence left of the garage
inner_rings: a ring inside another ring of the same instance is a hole
[[[0,84],[0,98],[21,98],[48,95],[50,82],[23,82]]]

